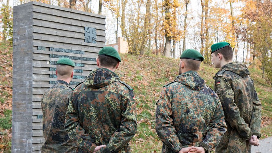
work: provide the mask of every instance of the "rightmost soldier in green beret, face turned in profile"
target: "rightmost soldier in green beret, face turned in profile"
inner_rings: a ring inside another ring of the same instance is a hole
[[[230,43],[220,42],[211,46],[212,62],[220,68],[215,74],[215,91],[225,113],[227,131],[216,152],[251,152],[251,145],[259,145],[261,107],[248,68],[232,62]]]

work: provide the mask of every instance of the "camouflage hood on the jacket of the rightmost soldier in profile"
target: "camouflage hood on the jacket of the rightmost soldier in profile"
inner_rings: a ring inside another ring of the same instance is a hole
[[[241,77],[245,77],[249,75],[249,70],[244,63],[241,62],[231,62],[226,65],[223,65],[222,68],[219,70],[227,70],[233,73],[238,74]]]

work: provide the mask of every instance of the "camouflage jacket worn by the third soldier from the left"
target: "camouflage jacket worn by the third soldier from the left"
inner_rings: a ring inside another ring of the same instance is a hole
[[[224,112],[215,92],[193,71],[164,86],[156,110],[162,152],[202,146],[209,152],[226,131]]]

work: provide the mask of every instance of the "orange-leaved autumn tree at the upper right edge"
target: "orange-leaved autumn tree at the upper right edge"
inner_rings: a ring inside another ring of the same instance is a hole
[[[250,0],[243,9],[244,17],[251,21],[248,27],[249,37],[254,45],[256,57],[261,62],[261,67],[268,75],[268,81],[272,84],[272,1]]]

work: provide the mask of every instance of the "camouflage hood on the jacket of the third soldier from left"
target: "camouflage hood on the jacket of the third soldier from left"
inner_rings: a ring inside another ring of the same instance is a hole
[[[197,73],[185,73],[176,77],[176,82],[186,85],[192,90],[201,90],[206,86],[204,80]]]

